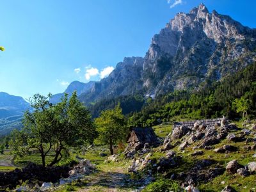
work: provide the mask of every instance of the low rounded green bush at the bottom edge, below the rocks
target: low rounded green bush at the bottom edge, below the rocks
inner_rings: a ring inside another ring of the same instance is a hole
[[[169,179],[159,179],[149,184],[143,192],[169,192],[169,191],[184,191],[179,184]]]

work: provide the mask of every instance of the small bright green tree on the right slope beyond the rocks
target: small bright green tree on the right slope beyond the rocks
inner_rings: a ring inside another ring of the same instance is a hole
[[[237,113],[243,113],[243,118],[248,118],[248,110],[250,109],[250,99],[245,99],[241,97],[240,99],[235,99],[232,102],[232,106],[236,109]]]

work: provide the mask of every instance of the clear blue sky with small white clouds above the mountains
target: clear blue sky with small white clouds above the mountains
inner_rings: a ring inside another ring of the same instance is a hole
[[[145,56],[154,34],[200,3],[256,28],[250,0],[1,1],[0,92],[28,98],[108,76],[125,56]]]

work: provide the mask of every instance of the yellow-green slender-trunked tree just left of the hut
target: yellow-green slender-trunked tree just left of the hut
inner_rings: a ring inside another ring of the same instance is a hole
[[[99,133],[97,141],[109,145],[110,154],[113,155],[113,145],[124,141],[128,131],[120,105],[102,111],[99,118],[95,119],[95,124]]]

